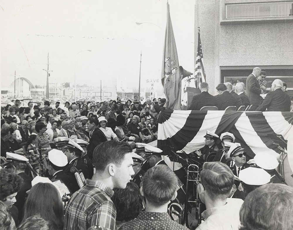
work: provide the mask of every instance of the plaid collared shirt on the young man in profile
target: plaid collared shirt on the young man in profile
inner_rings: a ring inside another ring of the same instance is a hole
[[[86,180],[86,186],[75,192],[65,211],[64,230],[87,230],[100,225],[115,230],[114,192],[101,182]]]

